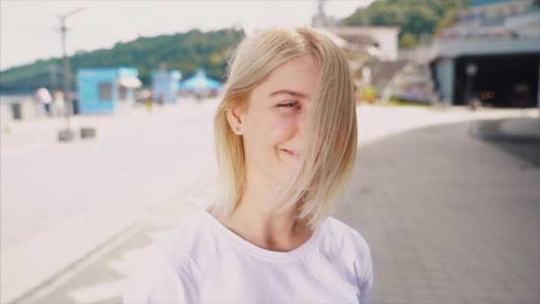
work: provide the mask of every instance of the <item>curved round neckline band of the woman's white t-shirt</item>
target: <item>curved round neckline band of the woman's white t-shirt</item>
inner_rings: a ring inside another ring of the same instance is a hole
[[[322,227],[326,221],[323,221],[321,225],[314,229],[314,233],[310,236],[304,244],[299,245],[297,248],[288,252],[276,252],[259,247],[256,244],[252,244],[242,236],[238,236],[231,229],[227,228],[222,222],[216,219],[206,209],[203,210],[205,218],[207,218],[214,228],[226,237],[227,240],[232,242],[234,246],[242,248],[242,250],[250,253],[251,255],[262,258],[265,260],[279,260],[279,261],[291,261],[298,260],[306,256],[310,249],[318,242],[321,237]]]

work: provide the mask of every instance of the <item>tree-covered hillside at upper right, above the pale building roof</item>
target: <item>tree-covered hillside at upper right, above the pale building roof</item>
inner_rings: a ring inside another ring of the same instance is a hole
[[[400,46],[413,47],[422,37],[452,23],[468,0],[377,0],[340,21],[341,25],[398,26]]]

